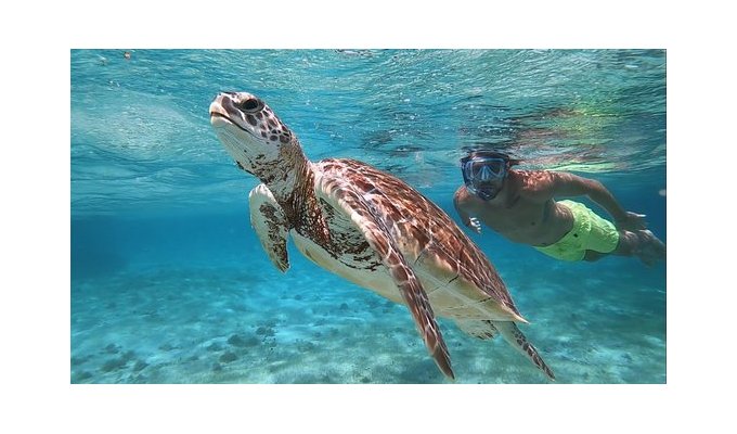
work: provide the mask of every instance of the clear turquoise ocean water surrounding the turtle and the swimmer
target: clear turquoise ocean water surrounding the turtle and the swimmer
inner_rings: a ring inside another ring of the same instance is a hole
[[[451,383],[403,306],[293,245],[286,273],[271,265],[249,227],[259,181],[209,125],[220,91],[263,98],[309,158],[362,159],[456,221],[458,158],[494,146],[602,181],[668,242],[664,51],[128,53],[70,52],[72,383]],[[558,383],[667,382],[664,263],[470,237]],[[439,322],[455,383],[548,383],[501,339]]]

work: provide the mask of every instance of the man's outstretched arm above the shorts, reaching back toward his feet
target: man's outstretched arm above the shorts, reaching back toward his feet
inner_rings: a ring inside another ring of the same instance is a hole
[[[586,195],[611,215],[617,228],[628,230],[645,229],[645,216],[630,213],[622,208],[602,182],[567,173],[552,173],[552,175],[554,196]]]

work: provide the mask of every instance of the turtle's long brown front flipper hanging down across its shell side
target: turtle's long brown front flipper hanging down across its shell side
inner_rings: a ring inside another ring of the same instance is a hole
[[[454,379],[450,354],[435,319],[427,293],[389,233],[380,214],[350,186],[328,184],[324,187],[326,188],[323,197],[331,206],[342,209],[350,216],[368,242],[368,246],[382,258],[382,263],[395,280],[402,299],[412,314],[417,331],[423,336],[438,368],[443,374]]]

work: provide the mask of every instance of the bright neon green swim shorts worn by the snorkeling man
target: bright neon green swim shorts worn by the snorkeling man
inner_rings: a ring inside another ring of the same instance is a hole
[[[563,260],[581,260],[586,251],[609,253],[617,248],[619,231],[615,225],[596,215],[586,205],[573,201],[559,201],[573,214],[573,228],[557,243],[534,247],[540,252]]]

